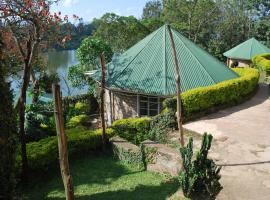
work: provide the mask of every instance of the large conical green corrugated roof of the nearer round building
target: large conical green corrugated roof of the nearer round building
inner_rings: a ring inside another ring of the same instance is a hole
[[[180,67],[181,90],[209,86],[238,76],[223,63],[172,29]],[[100,80],[100,71],[92,75]],[[175,95],[175,65],[167,25],[148,35],[107,65],[106,87]]]

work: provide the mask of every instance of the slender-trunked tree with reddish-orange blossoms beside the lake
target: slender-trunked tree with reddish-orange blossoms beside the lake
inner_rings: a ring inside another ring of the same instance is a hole
[[[2,0],[0,20],[3,23],[1,32],[12,42],[13,52],[22,64],[22,84],[16,108],[19,113],[19,134],[22,153],[22,175],[27,176],[27,154],[25,143],[25,102],[30,78],[33,88],[38,88],[38,80],[33,71],[33,62],[38,58],[42,45],[49,43],[57,36],[57,27],[61,22],[61,13],[50,13],[50,7],[58,0]],[[65,17],[67,19],[67,17]],[[64,38],[65,41],[67,38]]]

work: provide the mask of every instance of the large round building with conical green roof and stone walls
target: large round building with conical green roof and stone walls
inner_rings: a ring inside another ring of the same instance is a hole
[[[176,30],[172,29],[172,35],[179,61],[182,91],[238,77]],[[90,76],[100,82],[100,70]],[[121,118],[157,115],[162,110],[162,101],[175,94],[175,65],[167,25],[106,65],[105,105],[108,124]]]

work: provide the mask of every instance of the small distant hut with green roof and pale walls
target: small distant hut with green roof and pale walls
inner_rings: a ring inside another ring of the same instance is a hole
[[[227,65],[236,63],[239,67],[249,67],[253,56],[270,53],[270,49],[255,38],[251,38],[223,53],[227,57]]]

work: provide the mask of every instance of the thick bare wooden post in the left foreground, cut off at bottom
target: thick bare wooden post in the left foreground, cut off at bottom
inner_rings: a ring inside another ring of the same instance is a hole
[[[58,150],[59,150],[59,162],[61,175],[65,187],[65,195],[67,200],[74,200],[74,191],[72,178],[69,171],[68,164],[68,150],[67,141],[64,132],[64,118],[62,112],[62,100],[60,96],[60,86],[57,84],[52,85],[53,97],[54,97],[54,117],[58,138]]]

